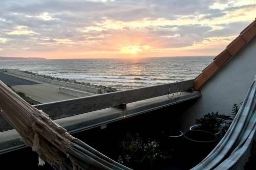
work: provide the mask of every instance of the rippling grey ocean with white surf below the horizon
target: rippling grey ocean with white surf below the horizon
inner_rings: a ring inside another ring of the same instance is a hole
[[[194,79],[214,57],[133,59],[0,60],[0,69],[20,69],[117,90]]]

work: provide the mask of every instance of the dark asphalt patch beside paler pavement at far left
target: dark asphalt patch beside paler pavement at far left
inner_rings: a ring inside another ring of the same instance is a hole
[[[7,75],[7,74],[4,74],[3,72],[0,73],[0,80],[10,86],[40,84],[40,83],[32,82],[30,80]]]

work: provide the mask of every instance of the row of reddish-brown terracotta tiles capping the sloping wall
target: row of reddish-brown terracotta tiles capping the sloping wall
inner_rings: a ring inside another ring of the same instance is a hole
[[[198,90],[209,80],[231,57],[236,55],[256,35],[256,19],[234,39],[194,80],[194,89]]]

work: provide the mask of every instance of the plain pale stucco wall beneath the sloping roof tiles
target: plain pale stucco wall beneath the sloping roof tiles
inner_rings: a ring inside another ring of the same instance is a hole
[[[202,96],[183,115],[183,130],[211,111],[231,114],[234,103],[243,102],[256,75],[256,37],[201,87]]]

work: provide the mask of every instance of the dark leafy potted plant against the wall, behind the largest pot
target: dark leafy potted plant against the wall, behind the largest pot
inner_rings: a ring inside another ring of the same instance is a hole
[[[225,123],[225,120],[232,120],[232,118],[218,112],[211,112],[205,114],[200,119],[196,119],[196,124],[200,124],[200,129],[202,130],[214,132],[221,124]]]

